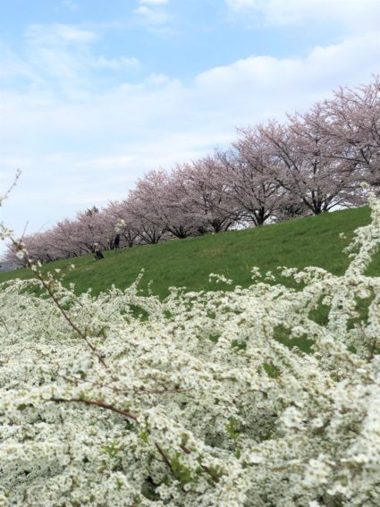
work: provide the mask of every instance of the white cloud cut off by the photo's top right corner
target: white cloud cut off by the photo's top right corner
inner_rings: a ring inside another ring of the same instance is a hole
[[[273,25],[298,25],[305,22],[337,22],[350,30],[378,29],[378,0],[225,0],[234,13],[263,16]]]

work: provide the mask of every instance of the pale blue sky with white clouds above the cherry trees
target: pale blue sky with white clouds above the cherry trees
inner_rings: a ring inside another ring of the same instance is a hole
[[[380,73],[380,0],[0,0],[0,13],[0,194],[21,169],[0,221],[16,235]]]

